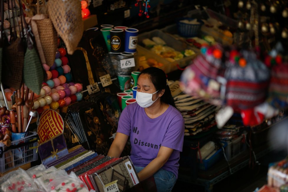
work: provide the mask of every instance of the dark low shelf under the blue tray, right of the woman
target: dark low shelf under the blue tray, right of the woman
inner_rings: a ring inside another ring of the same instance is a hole
[[[257,148],[254,148],[254,153],[256,160],[263,157],[271,151],[271,147],[267,145],[262,145]],[[193,179],[192,176],[188,175],[189,173],[184,170],[179,169],[178,180],[186,183],[191,183],[194,185],[201,185],[205,187],[206,192],[213,191],[213,185],[219,181],[229,177],[231,174],[236,173],[240,169],[249,165],[250,155],[249,149],[240,154],[238,157],[229,161],[230,169],[225,159],[219,161],[213,165],[210,169],[203,171],[198,171],[198,178]],[[252,157],[253,158],[253,157]],[[251,159],[251,162],[254,161],[254,158]]]

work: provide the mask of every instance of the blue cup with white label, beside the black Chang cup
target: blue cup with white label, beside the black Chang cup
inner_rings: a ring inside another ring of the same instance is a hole
[[[135,53],[138,43],[138,29],[125,29],[125,52]]]

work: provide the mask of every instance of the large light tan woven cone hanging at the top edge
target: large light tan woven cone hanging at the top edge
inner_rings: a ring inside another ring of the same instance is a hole
[[[67,53],[72,55],[84,30],[80,1],[49,0],[48,13],[57,33],[66,45]]]

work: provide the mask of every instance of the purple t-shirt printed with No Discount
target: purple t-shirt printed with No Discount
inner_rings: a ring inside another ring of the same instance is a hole
[[[145,167],[157,157],[160,146],[174,149],[163,169],[178,178],[180,152],[184,140],[184,119],[171,105],[159,117],[151,119],[137,103],[125,107],[117,132],[130,135],[130,158],[135,166]]]

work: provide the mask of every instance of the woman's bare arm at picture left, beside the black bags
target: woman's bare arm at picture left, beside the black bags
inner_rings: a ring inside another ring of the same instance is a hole
[[[108,151],[108,154],[107,156],[110,156],[110,157],[120,157],[125,145],[126,145],[126,142],[128,140],[128,135],[125,135],[123,133],[119,133],[117,132],[116,133],[116,137]]]

